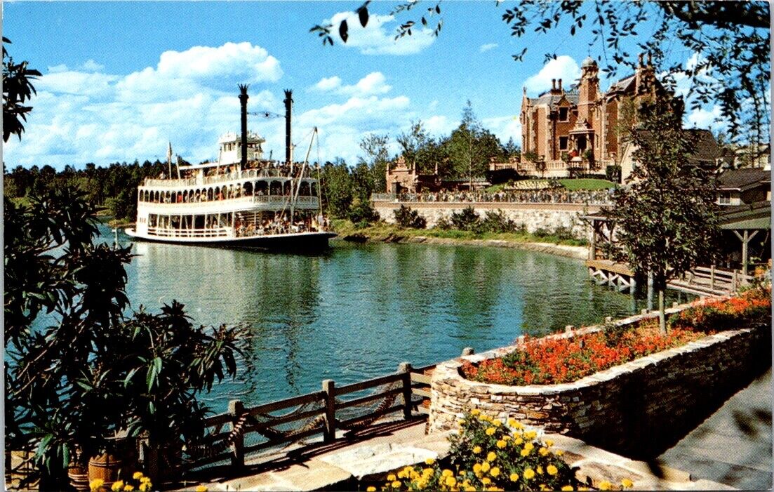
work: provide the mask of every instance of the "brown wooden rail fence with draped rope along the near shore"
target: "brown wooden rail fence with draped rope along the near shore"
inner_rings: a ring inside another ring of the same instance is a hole
[[[466,349],[463,354],[471,354]],[[187,446],[184,470],[201,470],[214,463],[231,463],[239,468],[245,458],[283,444],[322,435],[322,442],[332,442],[337,431],[354,431],[372,425],[387,415],[402,414],[410,419],[416,414],[429,413],[430,375],[435,364],[412,367],[402,363],[395,374],[372,378],[358,383],[337,386],[327,379],[320,391],[272,401],[246,408],[232,400],[228,412],[205,420],[208,429],[204,439]],[[368,395],[358,395],[370,390]],[[413,397],[419,397],[415,399]],[[375,405],[353,415],[358,407]],[[291,409],[283,415],[269,415]],[[347,415],[348,414],[348,415]],[[279,429],[279,426],[290,429]],[[246,444],[251,440],[260,440]],[[318,439],[319,442],[319,439]]]

